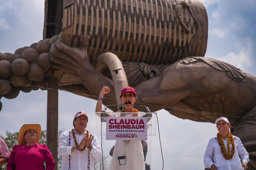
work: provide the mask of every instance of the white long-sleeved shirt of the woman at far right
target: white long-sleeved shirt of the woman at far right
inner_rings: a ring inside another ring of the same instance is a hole
[[[221,153],[217,136],[212,137],[209,140],[209,143],[204,153],[204,166],[206,168],[211,168],[212,164],[215,164],[218,170],[243,170],[244,168],[242,168],[242,163],[239,155],[242,158],[242,162],[245,162],[247,164],[249,162],[249,153],[245,150],[241,140],[238,137],[233,136],[233,139],[235,143],[235,154],[232,159],[227,160]],[[227,151],[228,138],[226,140],[223,140],[223,142]],[[231,149],[232,145],[230,142],[230,152]],[[212,158],[214,163],[212,162]]]

